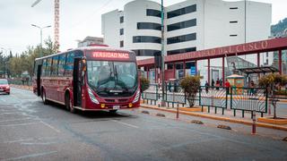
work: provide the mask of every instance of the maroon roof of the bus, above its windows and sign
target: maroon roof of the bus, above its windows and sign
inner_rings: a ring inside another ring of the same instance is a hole
[[[38,57],[35,59],[35,61],[37,60],[41,60],[41,59],[45,59],[45,58],[48,58],[48,57],[52,57],[52,56],[55,56],[55,55],[62,55],[62,54],[65,54],[65,53],[68,53],[68,52],[71,52],[71,51],[85,51],[85,50],[106,50],[106,51],[117,51],[117,52],[128,52],[128,53],[134,53],[132,50],[122,50],[122,49],[118,49],[118,48],[111,48],[111,47],[101,47],[101,46],[91,46],[91,47],[77,47],[77,48],[74,48],[74,49],[71,49],[71,50],[68,50],[68,51],[65,51],[65,52],[61,52],[61,53],[56,53],[56,54],[53,54],[53,55],[47,55],[47,56],[43,56],[43,57]]]

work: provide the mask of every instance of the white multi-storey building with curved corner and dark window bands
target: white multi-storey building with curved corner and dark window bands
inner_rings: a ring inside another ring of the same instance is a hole
[[[271,4],[251,1],[186,0],[164,7],[164,53],[174,55],[267,39],[271,13]],[[161,54],[161,4],[135,0],[126,4],[124,11],[104,13],[101,19],[105,44],[134,50],[141,58]],[[268,64],[272,64],[273,56],[268,57]],[[251,63],[257,60],[256,55],[243,58]],[[207,63],[200,62],[198,69],[204,73]],[[211,61],[215,68],[221,64],[222,59]]]

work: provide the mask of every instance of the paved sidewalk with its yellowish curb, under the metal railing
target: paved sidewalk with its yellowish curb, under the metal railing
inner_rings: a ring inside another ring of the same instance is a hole
[[[147,105],[147,104],[141,104],[141,107],[143,108],[149,108],[149,109],[154,109],[158,111],[164,111],[164,112],[169,112],[176,114],[177,113],[177,108],[171,108],[171,107],[158,107],[158,106],[152,106],[152,105]],[[207,112],[190,112],[188,111],[188,108],[186,107],[179,107],[179,114],[186,114],[186,115],[191,115],[191,116],[196,116],[196,117],[203,117],[203,118],[209,118],[213,120],[218,120],[218,121],[224,121],[224,122],[230,122],[230,123],[242,123],[246,125],[252,125],[253,121],[251,119],[251,113],[246,112],[244,114],[244,118],[242,118],[241,112],[237,112],[236,116],[233,116],[233,110],[224,110],[224,114],[222,114],[222,109],[218,108],[217,109],[217,114],[215,114],[214,108],[211,108],[210,113]],[[268,115],[264,114],[264,117],[272,117],[273,115]],[[179,116],[180,117],[180,116]],[[257,114],[256,118],[260,117],[260,114]],[[287,116],[285,115],[285,118]],[[287,131],[287,124],[284,125],[277,125],[277,124],[272,124],[272,123],[260,123],[257,122],[257,126],[259,127],[265,127],[269,129],[276,129],[276,130],[282,130],[282,131]]]

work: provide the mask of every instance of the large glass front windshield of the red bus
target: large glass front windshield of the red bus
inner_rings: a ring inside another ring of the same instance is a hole
[[[100,96],[130,96],[137,87],[135,62],[87,61],[88,84]],[[129,95],[130,94],[130,95]]]

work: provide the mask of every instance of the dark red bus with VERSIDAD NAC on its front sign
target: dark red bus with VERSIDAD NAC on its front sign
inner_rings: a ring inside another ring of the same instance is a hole
[[[72,113],[139,107],[139,82],[135,53],[109,47],[81,47],[34,63],[33,92]]]

